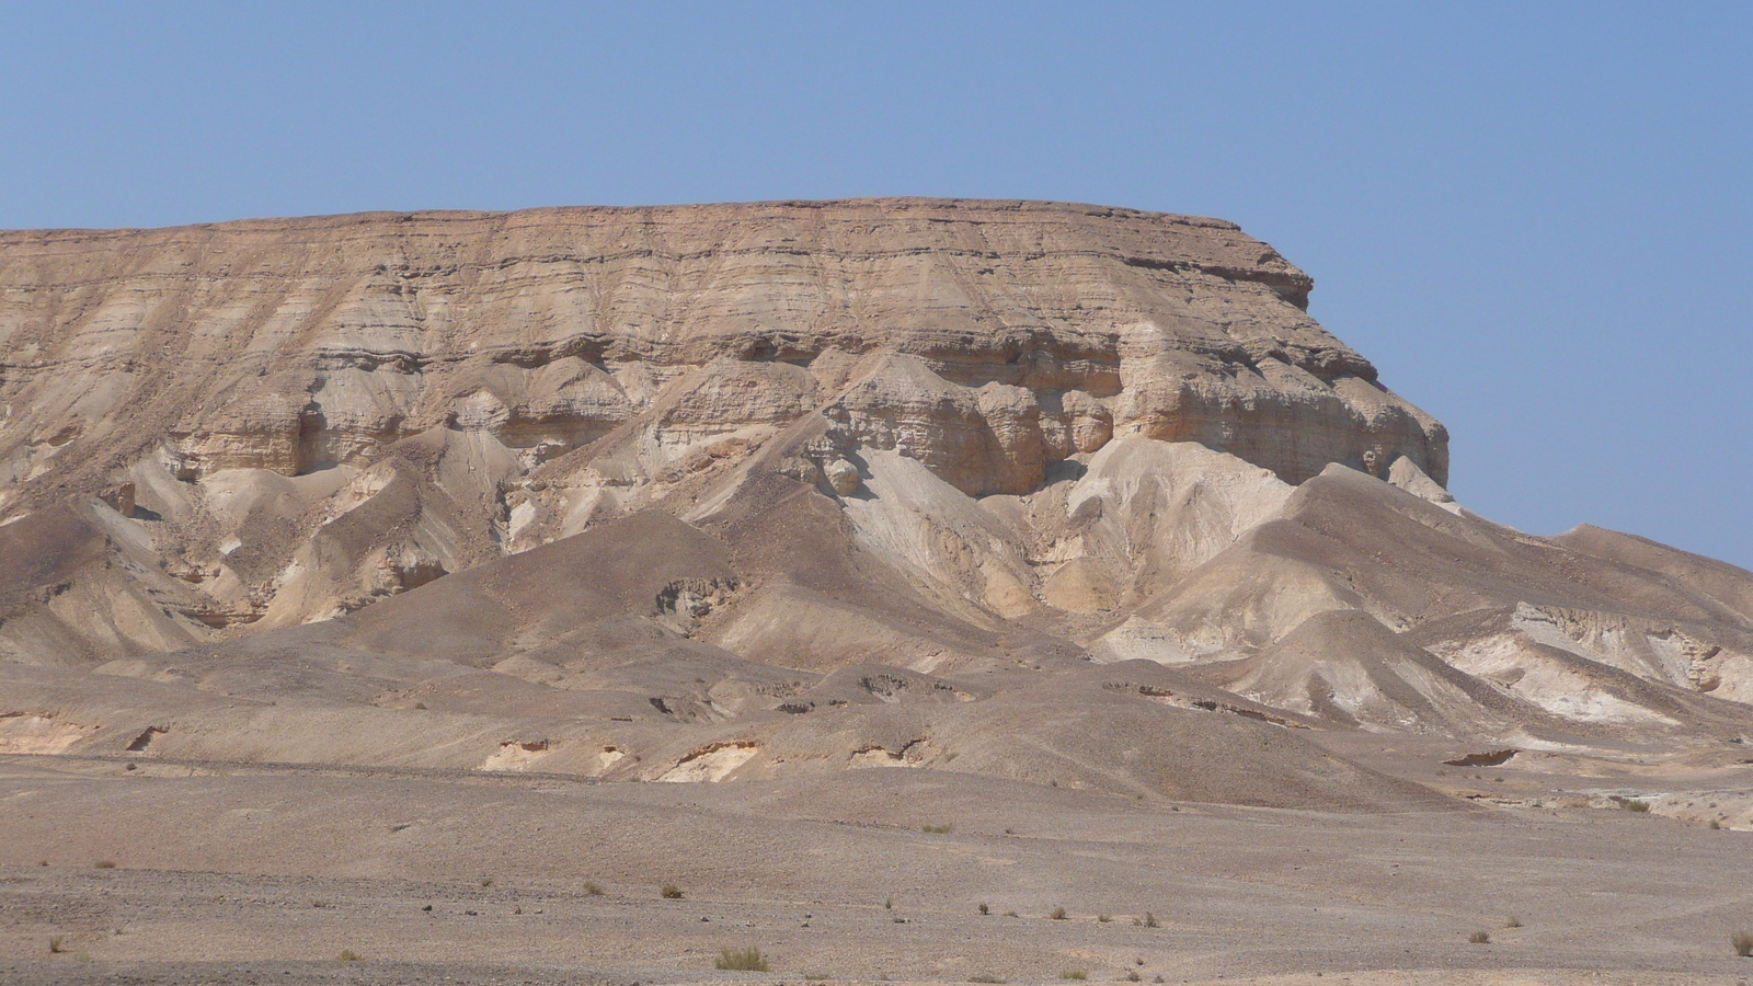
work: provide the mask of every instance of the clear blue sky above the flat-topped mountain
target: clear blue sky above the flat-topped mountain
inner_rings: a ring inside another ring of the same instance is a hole
[[[1534,533],[1753,567],[1753,4],[0,4],[0,226],[1224,216]]]

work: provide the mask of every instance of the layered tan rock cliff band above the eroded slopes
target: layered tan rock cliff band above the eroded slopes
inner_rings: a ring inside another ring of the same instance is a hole
[[[957,488],[1026,493],[1113,433],[1301,482],[1446,435],[1218,219],[866,200],[415,212],[0,233],[0,481],[300,475],[433,428],[536,465],[657,414],[654,442],[820,412]],[[82,460],[88,470],[68,470]]]

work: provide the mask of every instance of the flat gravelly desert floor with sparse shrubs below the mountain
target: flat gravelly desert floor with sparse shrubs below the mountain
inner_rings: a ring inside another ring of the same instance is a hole
[[[1495,800],[1336,814],[899,767],[629,784],[5,756],[0,981],[1753,979],[1728,944],[1753,928],[1753,833],[1543,800],[1511,770],[1443,782]],[[713,968],[747,946],[771,972]]]

